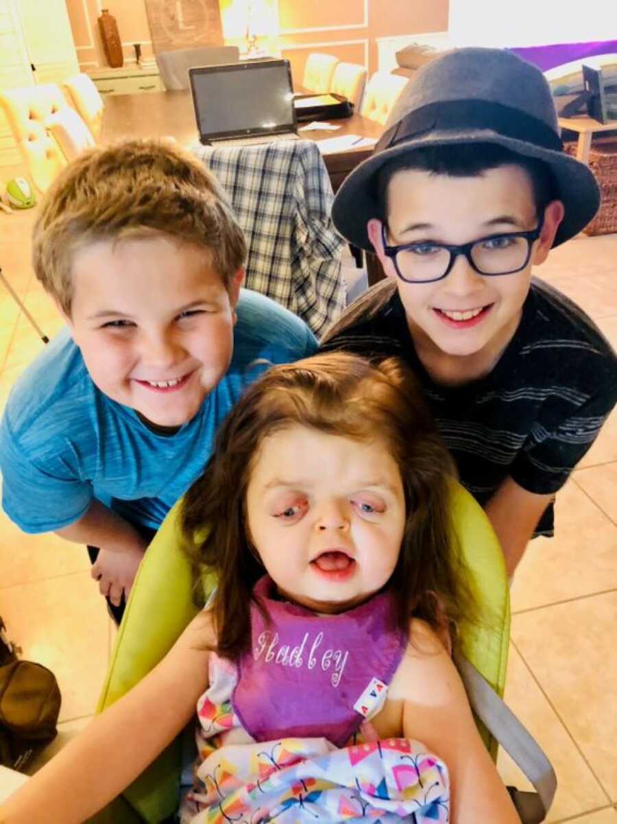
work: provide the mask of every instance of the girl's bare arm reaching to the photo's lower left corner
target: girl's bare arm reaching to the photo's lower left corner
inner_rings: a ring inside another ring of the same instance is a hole
[[[0,807],[2,824],[81,824],[121,793],[189,722],[208,686],[210,616]]]

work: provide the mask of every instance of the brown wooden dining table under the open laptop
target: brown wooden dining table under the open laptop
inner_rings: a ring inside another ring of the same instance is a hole
[[[301,132],[306,140],[325,140],[344,134],[380,138],[383,126],[361,115],[333,120],[340,125],[335,132]],[[300,124],[302,125],[302,124]],[[110,95],[105,97],[100,143],[118,138],[161,138],[170,135],[183,145],[199,139],[190,91],[152,91],[150,94]],[[332,188],[338,190],[349,172],[372,153],[372,147],[348,149],[324,155]]]

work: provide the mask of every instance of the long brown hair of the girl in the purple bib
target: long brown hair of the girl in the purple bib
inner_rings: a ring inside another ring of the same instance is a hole
[[[293,424],[360,441],[381,439],[395,458],[407,515],[386,586],[394,592],[401,629],[406,632],[415,616],[446,635],[463,616],[469,620],[473,599],[451,525],[453,463],[418,383],[397,358],[370,363],[347,353],[322,354],[274,367],[250,386],[185,495],[180,524],[189,557],[199,573],[217,576],[217,653],[233,660],[250,644],[252,591],[264,568],[247,536],[246,489],[264,438]]]

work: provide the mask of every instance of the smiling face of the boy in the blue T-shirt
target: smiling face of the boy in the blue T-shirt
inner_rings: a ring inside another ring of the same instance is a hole
[[[100,391],[159,426],[192,419],[231,361],[241,273],[230,295],[207,250],[159,235],[86,246],[72,276],[67,321]]]

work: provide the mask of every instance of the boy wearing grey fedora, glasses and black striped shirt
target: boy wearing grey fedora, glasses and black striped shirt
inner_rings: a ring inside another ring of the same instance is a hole
[[[531,269],[596,213],[548,83],[500,49],[457,49],[403,91],[334,224],[386,273],[322,342],[414,369],[512,575],[617,400],[617,358]]]

